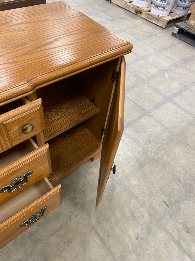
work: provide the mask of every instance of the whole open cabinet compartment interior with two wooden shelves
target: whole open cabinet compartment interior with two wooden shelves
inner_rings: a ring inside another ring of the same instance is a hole
[[[43,104],[43,135],[49,143],[52,183],[64,179],[101,151],[101,129],[106,127],[114,86],[111,78],[118,61],[117,58],[36,91]]]

